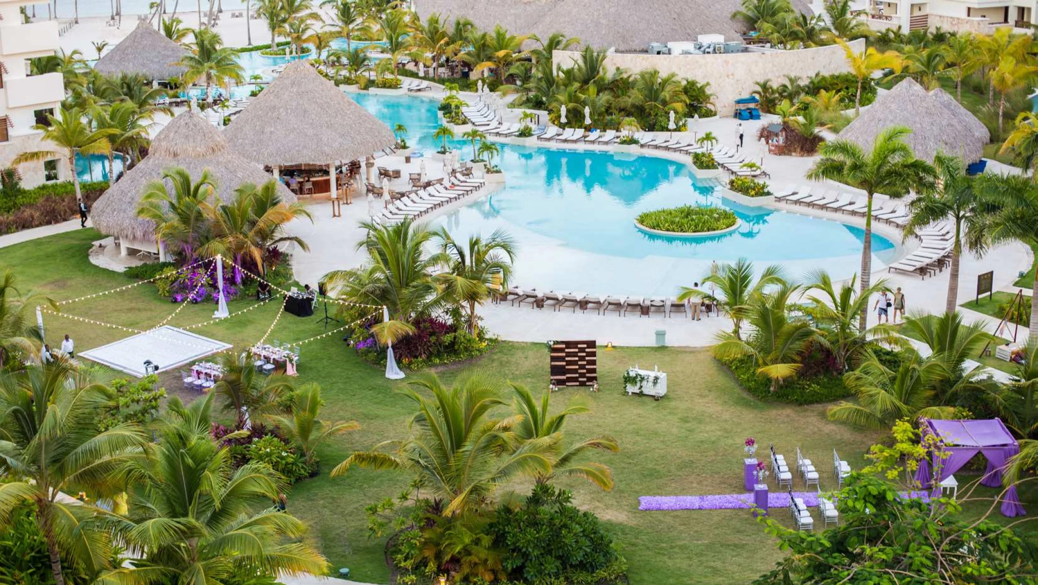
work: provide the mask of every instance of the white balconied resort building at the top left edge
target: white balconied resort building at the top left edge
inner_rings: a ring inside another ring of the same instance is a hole
[[[43,132],[33,126],[47,122],[64,99],[60,73],[29,75],[29,59],[53,55],[58,49],[57,21],[22,22],[20,8],[27,0],[0,0],[0,168],[11,167],[22,152],[51,150]],[[19,165],[23,187],[71,178],[63,157]]]

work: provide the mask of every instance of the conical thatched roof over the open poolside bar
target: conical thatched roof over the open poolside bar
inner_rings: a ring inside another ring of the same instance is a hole
[[[302,60],[289,63],[223,135],[235,151],[270,166],[363,160],[397,142],[386,124]]]

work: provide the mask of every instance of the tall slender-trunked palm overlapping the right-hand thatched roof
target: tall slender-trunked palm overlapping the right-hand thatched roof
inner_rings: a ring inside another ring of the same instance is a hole
[[[865,214],[865,238],[862,246],[862,290],[869,288],[872,277],[872,203],[876,193],[902,197],[909,191],[926,192],[933,187],[935,171],[926,161],[912,156],[904,137],[911,131],[892,127],[879,134],[872,150],[847,140],[831,140],[822,144],[822,158],[808,172],[808,178],[828,178],[865,191],[868,208]],[[868,311],[863,308],[859,329],[865,329]]]

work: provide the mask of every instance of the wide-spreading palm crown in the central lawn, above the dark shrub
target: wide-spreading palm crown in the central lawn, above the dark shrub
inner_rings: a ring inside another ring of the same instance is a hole
[[[506,403],[502,385],[496,379],[472,372],[447,388],[429,374],[410,385],[431,394],[403,392],[418,408],[408,422],[411,436],[352,453],[331,471],[332,477],[353,466],[409,471],[446,502],[443,516],[457,517],[486,508],[501,483],[551,472],[557,443],[554,438],[516,445],[513,427],[519,421],[490,416],[490,411]],[[516,447],[508,449],[509,445]]]

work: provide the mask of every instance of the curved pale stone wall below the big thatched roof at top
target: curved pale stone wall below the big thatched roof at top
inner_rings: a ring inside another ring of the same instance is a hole
[[[854,52],[865,50],[865,40],[852,40]],[[555,66],[570,66],[580,53],[576,51],[554,51]],[[839,45],[799,49],[795,51],[749,51],[721,55],[649,55],[648,53],[610,53],[605,57],[609,71],[621,67],[628,73],[657,69],[661,74],[677,74],[679,77],[710,82],[710,90],[716,94],[714,102],[720,115],[731,115],[735,111],[737,97],[749,95],[757,81],[767,79],[775,83],[784,81],[787,75],[808,78],[816,73],[825,75],[845,73],[847,56]]]

